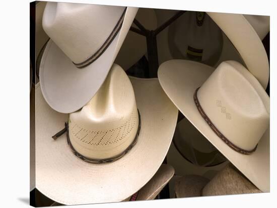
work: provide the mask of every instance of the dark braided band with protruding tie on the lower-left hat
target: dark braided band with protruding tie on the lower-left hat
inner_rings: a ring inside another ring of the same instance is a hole
[[[137,142],[137,138],[138,138],[138,135],[140,135],[140,130],[141,130],[141,115],[140,115],[140,112],[138,110],[137,110],[137,113],[138,113],[138,127],[137,127],[137,132],[136,132],[135,138],[132,141],[132,143],[122,153],[120,153],[118,156],[115,156],[115,157],[107,158],[107,159],[104,159],[104,160],[94,160],[94,159],[88,158],[88,157],[80,154],[79,152],[77,152],[76,149],[73,147],[73,145],[70,142],[70,137],[69,137],[69,132],[68,132],[68,123],[65,123],[64,129],[59,131],[58,133],[56,133],[54,136],[52,136],[52,138],[54,140],[56,140],[58,137],[60,137],[61,135],[63,135],[66,132],[67,144],[70,146],[73,153],[77,157],[84,160],[85,162],[94,163],[94,164],[114,162],[114,161],[120,159],[121,157],[123,157],[125,154],[127,154]]]

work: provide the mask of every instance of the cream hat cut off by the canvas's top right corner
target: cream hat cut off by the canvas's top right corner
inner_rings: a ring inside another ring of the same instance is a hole
[[[213,12],[207,14],[230,39],[247,69],[265,89],[269,80],[269,63],[261,40],[269,32],[269,17]],[[219,64],[225,60],[221,57]]]

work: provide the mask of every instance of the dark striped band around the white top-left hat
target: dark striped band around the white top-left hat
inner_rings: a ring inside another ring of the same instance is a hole
[[[75,66],[77,68],[84,68],[88,65],[90,65],[91,63],[93,63],[96,59],[99,58],[99,56],[101,56],[105,50],[109,47],[109,45],[111,44],[111,42],[113,41],[113,39],[115,38],[115,36],[117,35],[117,33],[119,32],[119,30],[121,29],[121,26],[123,24],[123,20],[124,20],[124,15],[126,12],[127,7],[124,9],[121,17],[119,18],[118,22],[116,23],[114,29],[112,30],[111,34],[109,35],[109,37],[107,38],[107,40],[104,42],[104,44],[96,51],[95,54],[93,54],[90,58],[88,58],[86,61],[83,61],[81,63],[74,63]]]

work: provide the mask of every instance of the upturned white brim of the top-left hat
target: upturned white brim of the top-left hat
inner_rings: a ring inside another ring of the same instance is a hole
[[[79,69],[52,41],[47,43],[39,70],[42,94],[60,113],[72,113],[95,95],[103,84],[129,31],[138,8],[127,7],[122,27],[105,52],[89,66]]]

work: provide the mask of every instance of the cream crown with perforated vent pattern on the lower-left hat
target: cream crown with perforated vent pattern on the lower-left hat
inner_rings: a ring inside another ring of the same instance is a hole
[[[81,111],[70,114],[73,147],[91,159],[116,157],[133,142],[138,128],[134,91],[114,64],[101,88]]]

